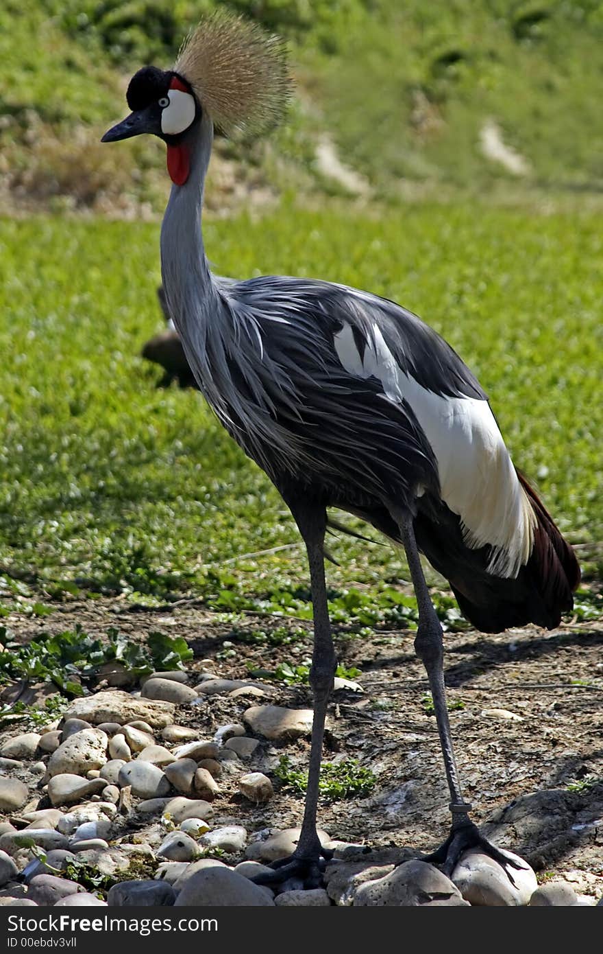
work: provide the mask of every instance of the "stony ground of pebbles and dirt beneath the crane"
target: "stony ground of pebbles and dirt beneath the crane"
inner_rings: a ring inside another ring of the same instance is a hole
[[[305,685],[250,677],[301,662],[307,623],[291,641],[246,638],[283,620],[233,628],[183,603],[135,611],[120,601],[71,604],[42,620],[7,620],[17,638],[79,622],[183,635],[186,674],[131,684],[106,675],[61,720],[0,732],[3,904],[572,904],[603,897],[603,625],[553,633],[447,636],[457,759],[473,818],[531,869],[516,886],[483,859],[452,881],[420,861],[448,834],[448,792],[427,684],[412,633],[338,633],[340,662],[361,671],[338,688],[325,758],[374,775],[368,795],[325,801],[334,849],[323,884],[274,893],[250,878],[292,850],[303,796],[275,773],[306,766],[312,714]],[[239,680],[231,682],[229,680]],[[119,683],[122,685],[119,685]],[[241,684],[243,683],[243,684]],[[31,687],[14,686],[35,700]],[[6,697],[7,694],[5,694]],[[39,696],[39,692],[37,693]],[[454,883],[452,883],[454,882]]]

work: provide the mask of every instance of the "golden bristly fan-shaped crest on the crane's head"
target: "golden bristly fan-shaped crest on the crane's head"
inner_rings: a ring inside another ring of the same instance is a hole
[[[226,135],[266,133],[282,119],[291,95],[284,41],[224,11],[190,33],[174,71]]]

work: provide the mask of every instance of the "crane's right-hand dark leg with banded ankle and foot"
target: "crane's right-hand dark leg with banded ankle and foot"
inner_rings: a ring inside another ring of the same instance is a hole
[[[434,861],[436,864],[440,864],[444,873],[450,876],[461,855],[469,848],[479,847],[483,852],[490,855],[494,861],[498,861],[503,865],[510,881],[514,883],[509,871],[509,866],[520,868],[521,865],[510,860],[486,840],[469,817],[472,806],[463,798],[452,749],[452,733],[444,685],[444,641],[442,627],[433,609],[430,592],[425,582],[425,576],[423,575],[419,551],[414,538],[412,516],[395,508],[391,508],[391,511],[402,534],[409,570],[411,571],[412,584],[416,594],[419,625],[414,640],[414,652],[425,666],[430,681],[433,710],[437,721],[437,731],[440,737],[442,755],[444,757],[444,768],[446,770],[446,778],[448,779],[448,787],[451,794],[451,834],[432,855],[428,856],[427,861]]]

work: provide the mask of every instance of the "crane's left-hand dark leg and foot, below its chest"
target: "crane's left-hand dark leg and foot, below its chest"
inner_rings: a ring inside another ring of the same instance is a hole
[[[312,888],[320,884],[324,860],[331,857],[331,853],[322,848],[316,833],[316,809],[327,704],[332,692],[336,659],[325,581],[324,540],[327,514],[324,508],[299,504],[291,507],[291,511],[308,550],[314,618],[314,647],[310,671],[314,717],[306,807],[299,841],[291,857],[273,862],[272,867],[275,870],[270,875],[258,875],[253,881],[271,884],[295,878],[300,879],[305,887]]]

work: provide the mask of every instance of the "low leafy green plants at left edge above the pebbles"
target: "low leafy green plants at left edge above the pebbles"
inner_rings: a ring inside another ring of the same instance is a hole
[[[0,650],[0,680],[49,680],[65,695],[84,695],[86,683],[107,662],[117,662],[125,673],[139,677],[155,670],[183,669],[183,661],[192,658],[192,650],[181,636],[149,633],[144,647],[116,629],[109,630],[105,641],[84,633],[79,625],[57,635],[40,633],[25,645],[12,641],[6,627],[0,627],[0,644],[4,647]],[[14,711],[10,707],[10,712]]]

